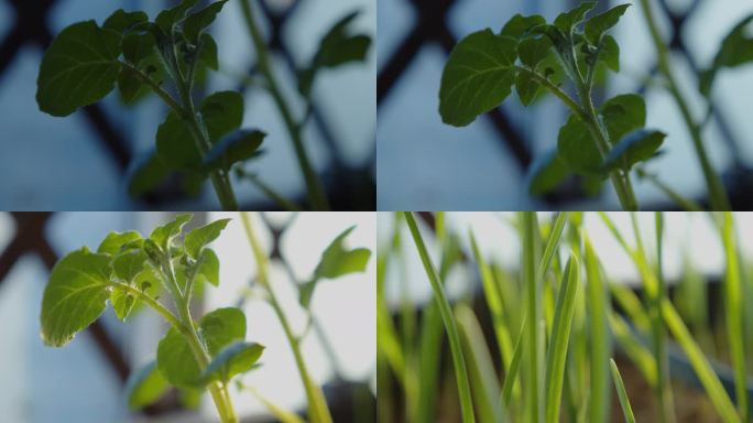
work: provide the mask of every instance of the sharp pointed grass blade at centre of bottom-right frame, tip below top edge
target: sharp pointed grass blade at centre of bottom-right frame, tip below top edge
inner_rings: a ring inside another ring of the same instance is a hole
[[[578,293],[578,260],[570,257],[563,282],[557,295],[555,307],[554,328],[552,339],[546,354],[546,422],[559,421],[559,404],[561,402],[563,380],[565,379],[565,360],[567,358],[568,341],[570,339],[570,325],[575,312],[575,299]]]

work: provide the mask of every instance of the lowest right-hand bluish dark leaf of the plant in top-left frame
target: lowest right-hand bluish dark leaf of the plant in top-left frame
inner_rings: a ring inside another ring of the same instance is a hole
[[[236,131],[222,140],[207,153],[204,159],[204,169],[229,170],[233,164],[258,156],[265,132],[243,129]]]

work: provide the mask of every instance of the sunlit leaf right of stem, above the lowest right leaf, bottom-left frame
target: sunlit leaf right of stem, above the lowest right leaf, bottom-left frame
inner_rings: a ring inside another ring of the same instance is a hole
[[[240,308],[218,308],[201,317],[200,335],[209,355],[217,356],[225,347],[245,338],[245,315]]]

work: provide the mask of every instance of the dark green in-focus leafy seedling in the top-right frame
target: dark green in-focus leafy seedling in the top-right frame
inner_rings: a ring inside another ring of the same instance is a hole
[[[644,128],[646,106],[635,94],[593,104],[596,76],[604,67],[619,72],[620,48],[607,32],[630,4],[586,18],[596,2],[582,2],[553,23],[541,15],[514,15],[498,34],[487,29],[462,39],[445,65],[439,113],[445,123],[465,127],[498,107],[513,86],[524,106],[544,90],[571,111],[556,149],[530,169],[532,194],[555,188],[569,173],[589,181],[609,177],[624,209],[637,209],[630,172],[653,158],[665,134]],[[569,79],[576,98],[561,89]]]

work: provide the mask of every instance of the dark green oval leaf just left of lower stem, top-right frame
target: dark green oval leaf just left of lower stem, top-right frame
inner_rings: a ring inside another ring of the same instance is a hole
[[[588,127],[575,115],[559,129],[557,137],[559,158],[574,172],[601,174],[601,153],[593,142]]]

